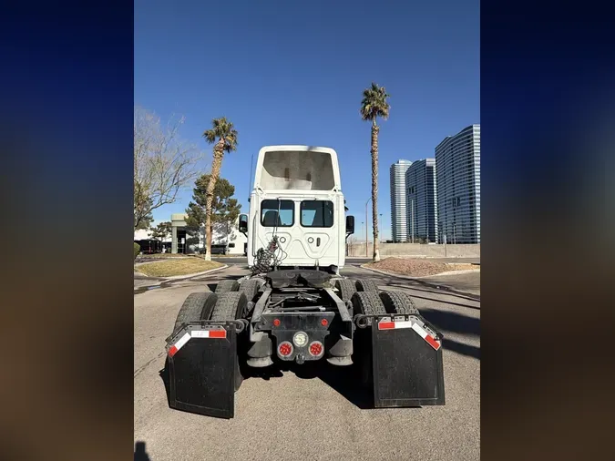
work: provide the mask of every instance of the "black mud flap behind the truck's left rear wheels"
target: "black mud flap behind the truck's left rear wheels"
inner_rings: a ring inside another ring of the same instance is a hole
[[[234,323],[188,324],[167,345],[169,405],[199,415],[232,418],[237,333]]]

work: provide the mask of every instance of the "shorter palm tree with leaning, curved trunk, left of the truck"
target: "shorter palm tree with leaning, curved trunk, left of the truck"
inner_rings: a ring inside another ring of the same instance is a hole
[[[230,153],[231,150],[237,150],[237,130],[233,128],[232,123],[226,117],[214,118],[211,120],[211,129],[207,129],[203,133],[203,138],[214,145],[211,176],[210,182],[207,185],[205,200],[205,232],[207,236],[205,260],[211,261],[211,204],[213,203],[213,190],[220,178],[220,168],[224,152]]]

